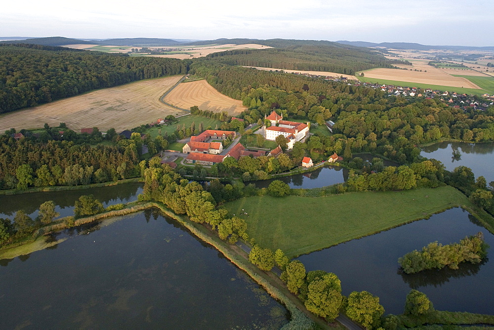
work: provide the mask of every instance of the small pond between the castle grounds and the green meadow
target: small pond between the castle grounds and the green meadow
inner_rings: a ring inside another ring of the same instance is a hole
[[[336,183],[343,183],[348,179],[348,169],[339,166],[324,166],[312,172],[284,176],[276,179],[251,181],[257,188],[267,188],[274,180],[282,180],[290,188],[320,188]]]

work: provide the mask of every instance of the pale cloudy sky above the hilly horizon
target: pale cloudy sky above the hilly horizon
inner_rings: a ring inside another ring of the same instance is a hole
[[[0,37],[218,38],[494,46],[492,0],[16,0]]]

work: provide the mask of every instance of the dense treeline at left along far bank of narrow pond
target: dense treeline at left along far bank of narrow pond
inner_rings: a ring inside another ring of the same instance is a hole
[[[117,146],[0,136],[0,189],[84,185],[140,175],[139,133]]]

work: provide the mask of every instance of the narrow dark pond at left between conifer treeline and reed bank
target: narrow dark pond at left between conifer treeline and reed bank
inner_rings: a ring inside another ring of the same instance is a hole
[[[65,190],[65,191],[45,191],[38,193],[25,193],[20,195],[1,195],[0,196],[0,218],[12,219],[20,209],[26,211],[32,218],[38,215],[38,207],[47,201],[53,201],[56,205],[55,210],[60,216],[74,215],[75,202],[82,195],[94,195],[94,197],[103,203],[103,206],[127,203],[137,200],[137,195],[142,193],[141,182],[125,183],[108,187]]]

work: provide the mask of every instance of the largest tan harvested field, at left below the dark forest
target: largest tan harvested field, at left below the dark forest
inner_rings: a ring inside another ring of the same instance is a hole
[[[160,97],[180,78],[132,82],[4,114],[0,116],[0,131],[11,127],[38,128],[44,123],[58,126],[62,122],[76,131],[94,126],[102,131],[111,127],[122,131],[167,115],[182,115],[185,112],[160,102]]]

